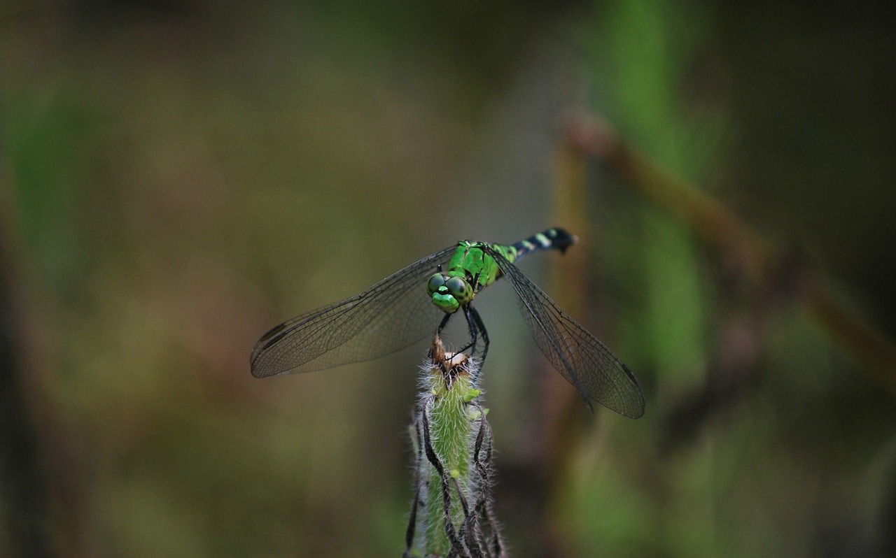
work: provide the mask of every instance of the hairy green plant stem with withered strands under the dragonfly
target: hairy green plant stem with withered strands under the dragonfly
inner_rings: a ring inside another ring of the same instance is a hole
[[[404,555],[504,557],[492,513],[492,436],[487,409],[478,403],[478,360],[446,353],[436,333],[421,371],[410,428],[416,485]]]

